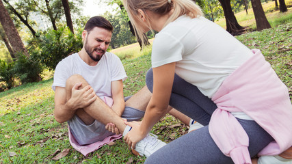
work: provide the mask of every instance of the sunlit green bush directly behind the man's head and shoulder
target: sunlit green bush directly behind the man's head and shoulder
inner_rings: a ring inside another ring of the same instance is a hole
[[[76,30],[75,30],[76,31]],[[77,53],[83,46],[81,30],[75,35],[68,28],[48,31],[40,38],[35,38],[40,49],[40,63],[54,70],[58,62],[66,56]]]

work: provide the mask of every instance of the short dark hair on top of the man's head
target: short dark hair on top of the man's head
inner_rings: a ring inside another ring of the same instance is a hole
[[[107,29],[113,33],[114,27],[111,25],[109,20],[103,18],[103,16],[94,16],[88,20],[86,23],[84,30],[88,31],[88,33],[94,28],[100,27],[103,29]]]

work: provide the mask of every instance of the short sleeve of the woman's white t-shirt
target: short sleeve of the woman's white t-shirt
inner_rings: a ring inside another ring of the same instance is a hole
[[[158,33],[152,46],[152,68],[180,61],[184,46],[170,33]]]

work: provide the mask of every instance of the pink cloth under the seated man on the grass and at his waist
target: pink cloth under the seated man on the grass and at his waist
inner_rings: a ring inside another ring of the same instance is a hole
[[[105,101],[105,103],[107,105],[109,105],[109,107],[111,107],[111,105],[113,105],[113,100],[111,98],[104,96],[104,97],[101,97],[101,99],[103,101]],[[90,152],[94,152],[95,150],[98,150],[98,148],[101,148],[105,144],[110,143],[116,139],[120,139],[122,137],[121,134],[120,135],[111,135],[111,136],[103,139],[103,141],[96,141],[96,142],[91,143],[89,145],[81,146],[76,141],[75,137],[72,135],[70,128],[68,128],[68,135],[69,135],[69,142],[70,142],[71,146],[73,148],[75,148],[75,150],[81,152],[81,154],[83,154],[84,156],[88,156],[88,154],[90,154]]]

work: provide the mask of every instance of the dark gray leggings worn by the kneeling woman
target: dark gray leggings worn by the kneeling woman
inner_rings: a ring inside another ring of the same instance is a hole
[[[146,85],[152,92],[153,75],[152,69],[146,74]],[[216,146],[208,130],[211,114],[217,106],[215,103],[204,96],[198,88],[187,81],[181,79],[176,74],[170,97],[170,106],[178,111],[185,113],[190,118],[200,122],[204,127],[196,131],[187,133],[178,139],[168,143],[163,148],[157,150],[146,159],[145,163],[233,163],[232,159],[225,156]],[[261,126],[252,120],[237,119],[249,137],[250,156],[255,156],[268,143],[274,139]]]

